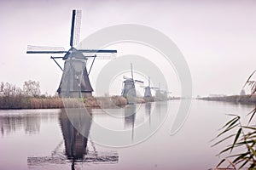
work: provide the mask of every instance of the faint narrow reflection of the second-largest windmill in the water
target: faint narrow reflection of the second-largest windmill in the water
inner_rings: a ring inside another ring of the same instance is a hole
[[[131,139],[134,137],[134,124],[136,118],[136,105],[127,105],[125,107],[125,128],[131,127]]]

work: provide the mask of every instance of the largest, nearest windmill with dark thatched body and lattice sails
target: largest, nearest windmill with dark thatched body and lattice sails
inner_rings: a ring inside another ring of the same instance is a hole
[[[29,45],[26,51],[26,54],[64,54],[63,57],[50,57],[60,68],[61,65],[59,65],[55,59],[65,60],[64,69],[61,68],[61,71],[63,71],[61,83],[57,90],[58,94],[63,97],[85,98],[91,96],[93,88],[90,84],[89,75],[95,59],[111,59],[111,56],[114,56],[113,54],[117,53],[116,50],[74,48],[74,46],[79,43],[80,25],[81,11],[73,10],[69,50],[65,50],[64,48],[60,47]],[[106,55],[104,54],[111,54],[111,56],[107,56],[106,58]],[[86,64],[87,60],[90,58],[93,58],[93,60],[90,65],[90,70],[87,71]]]

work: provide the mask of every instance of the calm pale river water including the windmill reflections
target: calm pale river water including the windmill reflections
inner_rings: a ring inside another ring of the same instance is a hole
[[[186,122],[171,136],[179,104],[90,109],[92,116],[58,109],[0,111],[0,169],[209,169],[220,161],[215,155],[223,146],[212,148],[209,141],[230,119],[225,114],[253,109],[192,100]]]

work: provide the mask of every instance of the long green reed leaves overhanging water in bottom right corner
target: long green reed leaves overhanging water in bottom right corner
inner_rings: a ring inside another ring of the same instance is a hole
[[[254,109],[250,112],[251,116],[246,126],[241,123],[241,116],[230,115],[232,119],[222,127],[221,133],[218,133],[216,137],[219,140],[215,144],[212,144],[212,146],[215,146],[224,143],[228,139],[232,139],[231,143],[218,154],[218,156],[224,153],[229,153],[230,155],[220,161],[216,169],[236,169],[236,167],[238,169],[242,167],[247,169],[256,168],[256,126],[250,123],[255,111]],[[236,151],[236,154],[232,154],[235,150],[239,151]],[[225,161],[228,162],[228,166],[220,168]]]

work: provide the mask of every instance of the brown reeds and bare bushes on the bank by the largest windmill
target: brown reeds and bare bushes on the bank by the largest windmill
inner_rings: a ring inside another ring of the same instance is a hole
[[[9,82],[0,83],[0,109],[55,109],[63,107],[104,107],[127,105],[120,96],[62,99],[58,95],[41,94],[39,82],[24,82],[23,88]]]

